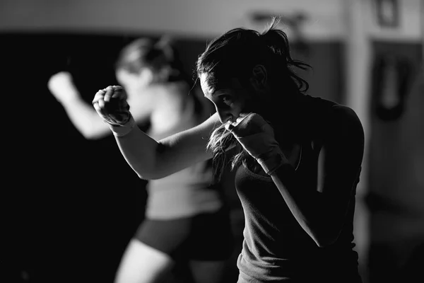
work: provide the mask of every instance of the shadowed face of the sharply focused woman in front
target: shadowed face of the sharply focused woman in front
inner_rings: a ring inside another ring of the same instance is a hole
[[[221,123],[236,122],[238,117],[257,110],[254,105],[254,93],[243,88],[237,79],[233,79],[232,86],[223,89],[213,89],[208,85],[207,74],[200,75],[200,85],[204,96],[215,105]]]

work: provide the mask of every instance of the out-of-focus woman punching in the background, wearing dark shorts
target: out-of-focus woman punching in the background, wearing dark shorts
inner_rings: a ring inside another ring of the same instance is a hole
[[[165,37],[134,40],[120,52],[115,70],[128,95],[125,107],[131,108],[138,125],[148,123],[147,134],[155,140],[195,127],[210,115],[210,104],[190,93],[190,80]],[[83,101],[71,74],[55,74],[48,87],[84,137],[111,134],[92,105]],[[222,282],[232,233],[220,188],[209,161],[149,181],[146,219],[126,248],[116,282]]]

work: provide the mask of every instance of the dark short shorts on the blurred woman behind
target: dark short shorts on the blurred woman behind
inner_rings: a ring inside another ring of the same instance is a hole
[[[134,238],[174,260],[227,260],[234,248],[228,209],[171,220],[145,219]]]

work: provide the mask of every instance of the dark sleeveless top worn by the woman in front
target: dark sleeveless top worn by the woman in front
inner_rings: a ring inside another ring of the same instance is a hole
[[[326,121],[336,103],[305,96],[301,156],[296,190],[317,190],[317,164]],[[349,150],[349,149],[346,149]],[[235,185],[245,211],[245,240],[237,260],[247,282],[360,282],[358,254],[353,250],[353,185],[348,212],[338,240],[317,246],[293,216],[271,177],[237,169]]]

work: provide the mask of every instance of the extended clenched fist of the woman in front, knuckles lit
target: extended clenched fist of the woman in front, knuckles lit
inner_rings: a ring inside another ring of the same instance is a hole
[[[122,86],[108,86],[95,94],[93,106],[105,122],[122,126],[131,118],[126,98],[126,92]]]

